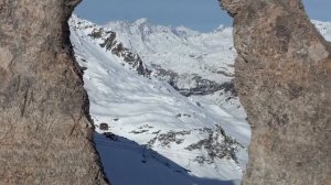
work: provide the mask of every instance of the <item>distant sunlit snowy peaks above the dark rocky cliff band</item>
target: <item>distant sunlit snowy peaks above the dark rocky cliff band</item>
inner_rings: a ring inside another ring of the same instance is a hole
[[[177,74],[195,74],[216,81],[226,81],[234,74],[236,54],[229,28],[199,33],[184,28],[152,25],[146,19],[110,22],[106,28],[116,32],[149,66],[160,65]],[[220,75],[223,73],[227,75]],[[185,85],[190,83],[183,81]]]

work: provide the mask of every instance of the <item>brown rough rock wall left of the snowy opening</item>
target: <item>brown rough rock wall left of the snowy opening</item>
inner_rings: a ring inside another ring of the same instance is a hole
[[[0,0],[0,184],[107,184],[67,19],[79,0]]]

